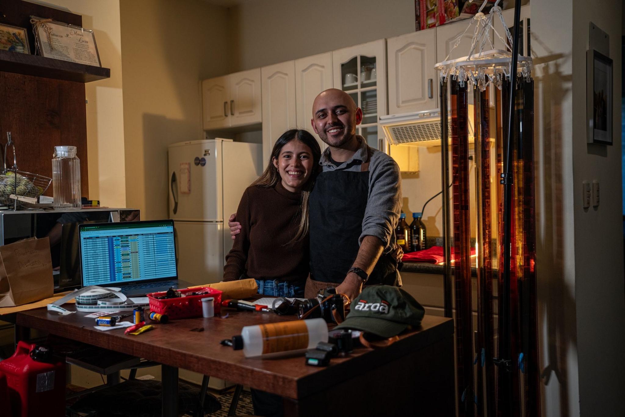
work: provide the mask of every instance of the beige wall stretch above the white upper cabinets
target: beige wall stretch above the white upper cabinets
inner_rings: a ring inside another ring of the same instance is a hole
[[[230,9],[231,72],[414,31],[414,0],[252,0]]]

